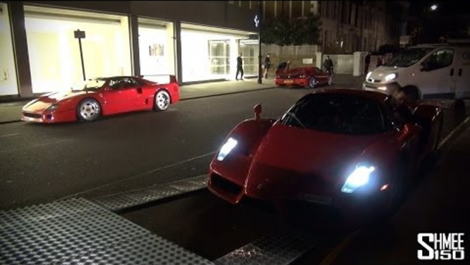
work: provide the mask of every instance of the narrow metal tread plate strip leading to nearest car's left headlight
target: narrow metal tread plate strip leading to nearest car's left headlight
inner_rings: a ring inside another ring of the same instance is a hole
[[[182,181],[176,181],[164,185],[95,198],[93,201],[106,209],[110,209],[111,211],[119,211],[129,207],[135,207],[152,201],[161,200],[162,198],[169,198],[186,192],[204,189],[207,187],[207,179],[208,176],[206,175],[196,176],[195,178],[186,178]]]

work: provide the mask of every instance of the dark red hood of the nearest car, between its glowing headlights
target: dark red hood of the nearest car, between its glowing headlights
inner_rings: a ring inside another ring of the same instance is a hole
[[[378,137],[275,124],[253,157],[246,192],[253,197],[272,198],[292,196],[290,192],[314,187],[318,194],[329,194],[344,183],[347,166]]]

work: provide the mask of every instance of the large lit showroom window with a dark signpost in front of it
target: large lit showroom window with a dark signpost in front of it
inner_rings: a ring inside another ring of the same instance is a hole
[[[132,75],[127,16],[25,5],[34,93],[66,91],[83,80],[75,30],[82,39],[86,78]]]

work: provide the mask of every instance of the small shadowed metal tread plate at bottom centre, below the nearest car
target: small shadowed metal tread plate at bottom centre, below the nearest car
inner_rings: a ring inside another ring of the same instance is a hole
[[[254,242],[219,259],[217,265],[281,265],[290,264],[314,245],[304,233],[281,231]]]

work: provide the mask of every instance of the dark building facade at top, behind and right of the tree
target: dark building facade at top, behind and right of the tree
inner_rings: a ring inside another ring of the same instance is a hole
[[[238,8],[258,10],[260,1],[229,1]],[[261,1],[262,17],[321,18],[321,47],[325,53],[374,51],[399,44],[406,34],[407,1]]]

